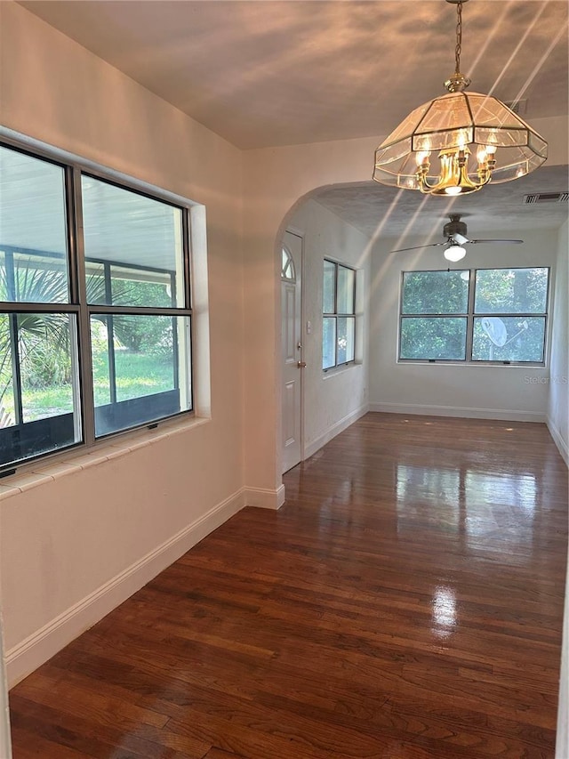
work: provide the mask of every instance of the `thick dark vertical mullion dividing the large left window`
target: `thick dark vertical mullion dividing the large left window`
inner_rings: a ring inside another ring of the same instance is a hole
[[[87,279],[85,276],[84,260],[84,229],[83,229],[83,198],[81,194],[81,171],[73,169],[73,214],[69,218],[71,262],[72,266],[72,295],[76,296],[79,305],[79,377],[81,384],[81,416],[83,418],[84,442],[89,445],[95,440],[95,411],[92,388],[92,353],[91,353],[91,324],[87,305]]]

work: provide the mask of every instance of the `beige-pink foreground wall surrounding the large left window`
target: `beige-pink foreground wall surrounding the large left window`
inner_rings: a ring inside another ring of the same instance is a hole
[[[101,594],[112,608],[244,503],[242,154],[19,4],[0,3],[0,13],[5,127],[207,207],[208,292],[203,272],[198,287],[210,339],[196,359],[201,382],[211,376],[212,407],[202,424],[139,434],[139,448],[106,448],[65,476],[2,480],[14,682],[39,663],[35,653],[51,655],[109,610]],[[209,388],[200,393],[209,405]]]

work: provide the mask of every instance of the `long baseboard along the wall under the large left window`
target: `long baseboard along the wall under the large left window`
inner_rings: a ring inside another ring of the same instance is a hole
[[[199,543],[212,530],[245,505],[244,489],[214,506],[208,513],[180,530],[169,540],[147,553],[119,575],[89,593],[58,617],[52,619],[5,653],[8,687],[27,677],[38,666],[75,640],[110,611],[130,598],[163,569]]]

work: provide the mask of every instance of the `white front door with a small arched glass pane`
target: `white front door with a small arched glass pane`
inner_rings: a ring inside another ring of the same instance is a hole
[[[284,232],[281,270],[282,303],[282,471],[299,464],[302,456],[302,238]]]

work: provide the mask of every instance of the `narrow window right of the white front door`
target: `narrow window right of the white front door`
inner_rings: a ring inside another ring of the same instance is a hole
[[[349,364],[356,351],[356,271],[325,259],[322,368]]]

